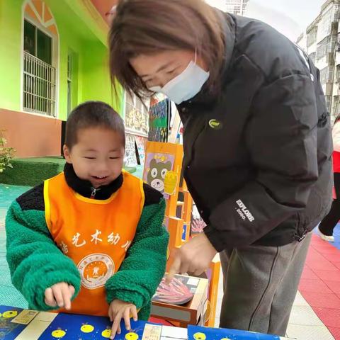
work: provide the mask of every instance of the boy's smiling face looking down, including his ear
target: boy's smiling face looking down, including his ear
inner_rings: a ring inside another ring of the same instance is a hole
[[[64,145],[67,163],[73,165],[79,179],[90,181],[94,188],[106,186],[118,178],[124,154],[123,137],[102,127],[81,129],[72,149]]]

